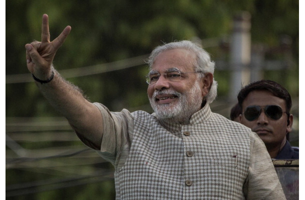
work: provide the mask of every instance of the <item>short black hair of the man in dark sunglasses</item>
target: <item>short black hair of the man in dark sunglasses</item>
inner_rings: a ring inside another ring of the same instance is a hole
[[[274,96],[284,99],[286,103],[286,112],[290,112],[292,101],[289,92],[285,87],[272,80],[258,80],[244,86],[237,95],[240,107],[242,107],[242,102],[247,95],[254,90],[266,90],[271,92]]]

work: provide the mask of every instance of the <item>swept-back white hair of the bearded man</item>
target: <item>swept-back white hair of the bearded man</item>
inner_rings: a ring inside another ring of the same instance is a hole
[[[183,48],[195,53],[196,60],[194,60],[193,63],[194,70],[201,71],[202,72],[200,73],[201,77],[204,76],[204,74],[207,72],[214,74],[215,63],[211,61],[208,52],[206,52],[199,45],[188,40],[174,41],[155,47],[150,53],[150,56],[148,57],[147,60],[147,64],[149,65],[149,70],[151,70],[152,63],[154,62],[155,57],[159,53],[176,48]],[[211,103],[216,98],[216,95],[217,95],[217,81],[215,81],[213,77],[213,83],[210,87],[208,94],[205,96],[206,102]]]

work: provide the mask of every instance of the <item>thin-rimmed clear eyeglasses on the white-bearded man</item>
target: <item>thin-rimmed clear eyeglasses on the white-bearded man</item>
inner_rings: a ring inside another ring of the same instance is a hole
[[[184,73],[201,73],[201,71],[181,72],[179,70],[170,70],[165,73],[159,73],[156,71],[152,71],[145,77],[146,77],[147,84],[154,84],[158,81],[161,74],[163,74],[164,77],[170,81],[179,81],[179,80],[181,80],[182,74],[184,74]]]

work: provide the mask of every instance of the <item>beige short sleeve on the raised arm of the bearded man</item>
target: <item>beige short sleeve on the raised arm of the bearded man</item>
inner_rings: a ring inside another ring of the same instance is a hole
[[[101,103],[94,103],[101,112],[103,134],[100,150],[97,153],[111,162],[115,168],[123,165],[129,153],[133,132],[133,117],[123,109],[121,112],[110,112]]]

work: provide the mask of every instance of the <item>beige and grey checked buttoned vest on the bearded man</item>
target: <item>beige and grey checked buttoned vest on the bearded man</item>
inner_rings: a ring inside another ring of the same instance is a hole
[[[114,173],[116,199],[244,199],[249,130],[212,113],[190,124],[160,124],[136,111],[125,164]]]

